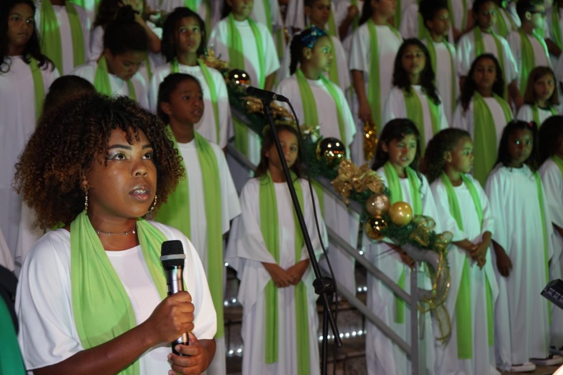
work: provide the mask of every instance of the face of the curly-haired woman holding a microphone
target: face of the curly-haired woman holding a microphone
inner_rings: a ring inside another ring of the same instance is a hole
[[[108,154],[97,155],[82,182],[88,189],[88,213],[99,220],[142,217],[157,192],[153,147],[142,131],[138,141],[132,135],[132,144],[126,136],[120,129],[111,131]]]

